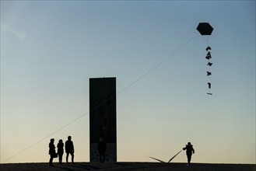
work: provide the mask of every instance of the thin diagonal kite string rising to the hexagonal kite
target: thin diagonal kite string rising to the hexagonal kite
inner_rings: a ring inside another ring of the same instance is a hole
[[[195,37],[197,37],[197,35],[195,35]],[[120,94],[121,92],[124,92],[124,90],[128,89],[129,87],[131,87],[132,85],[134,85],[136,82],[139,82],[139,80],[143,79],[144,77],[146,77],[146,75],[149,75],[151,72],[153,72],[156,68],[159,68],[160,65],[163,65],[164,62],[168,61],[170,58],[172,58],[174,56],[174,54],[177,54],[178,51],[181,51],[182,48],[184,48],[187,44],[189,44],[191,42],[191,40],[194,40],[195,37],[192,37],[191,39],[189,39],[185,44],[183,44],[180,48],[178,48],[176,51],[174,51],[173,54],[170,54],[167,58],[163,59],[163,61],[160,61],[160,63],[158,63],[157,65],[155,65],[153,68],[149,69],[148,72],[145,72],[143,75],[141,75],[138,79],[135,79],[135,81],[131,82],[128,86],[125,86],[123,89],[121,89],[120,91],[117,92],[117,94]],[[114,96],[111,96],[109,99],[112,99]],[[93,107],[92,110],[95,110],[97,107],[103,105],[103,103],[107,103],[107,101],[109,99],[106,99],[105,101],[103,101],[102,103],[100,103],[99,105]],[[83,113],[82,115],[80,115],[79,117],[76,117],[74,120],[68,122],[68,124],[65,124],[64,126],[58,128],[56,131],[51,132],[51,134],[47,134],[47,136],[45,136],[44,138],[41,138],[40,140],[34,142],[32,145],[28,146],[27,148],[24,148],[23,150],[21,150],[20,152],[17,152],[15,155],[12,155],[11,157],[9,157],[8,159],[5,159],[4,162],[9,161],[10,159],[16,157],[17,155],[25,152],[26,150],[32,148],[34,145],[37,145],[38,143],[40,143],[40,141],[44,141],[46,138],[49,138],[51,135],[57,133],[58,131],[61,131],[62,129],[64,129],[65,127],[68,127],[68,125],[74,123],[76,120],[79,120],[80,118],[86,116],[86,114],[88,114],[90,111],[86,113]]]

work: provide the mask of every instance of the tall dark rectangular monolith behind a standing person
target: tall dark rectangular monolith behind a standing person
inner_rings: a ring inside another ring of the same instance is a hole
[[[89,79],[89,161],[99,162],[97,144],[107,142],[105,162],[117,162],[116,78]]]

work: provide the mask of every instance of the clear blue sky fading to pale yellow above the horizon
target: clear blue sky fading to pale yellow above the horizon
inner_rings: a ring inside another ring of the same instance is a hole
[[[255,1],[1,0],[0,162],[48,162],[68,135],[89,162],[102,77],[117,78],[118,162],[168,161],[190,141],[191,162],[256,163]]]

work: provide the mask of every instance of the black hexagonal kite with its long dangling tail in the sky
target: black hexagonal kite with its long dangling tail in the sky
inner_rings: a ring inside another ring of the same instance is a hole
[[[196,30],[198,30],[198,32],[202,36],[205,36],[205,35],[206,36],[211,36],[213,28],[209,23],[199,23]],[[206,39],[206,40],[207,40],[207,44],[208,44],[208,39]],[[207,74],[207,76],[209,76],[209,82],[207,82],[207,84],[208,84],[208,88],[210,90],[212,88],[212,83],[210,82],[210,80],[211,80],[210,76],[212,75],[212,72],[211,72],[212,62],[210,61],[212,59],[212,55],[211,55],[212,47],[208,46],[208,47],[206,47],[205,50],[208,52],[205,56],[205,59],[207,59],[209,61],[208,64],[207,64],[209,66],[209,71],[207,71],[206,74]],[[212,95],[212,92],[207,92],[207,94]]]

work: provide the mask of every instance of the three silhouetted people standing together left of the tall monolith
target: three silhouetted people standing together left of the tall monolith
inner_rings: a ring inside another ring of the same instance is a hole
[[[74,145],[73,142],[71,141],[71,136],[68,136],[68,140],[65,141],[65,152],[66,152],[66,162],[68,163],[68,155],[70,154],[72,156],[72,163],[74,163]],[[64,153],[64,143],[60,139],[58,141],[57,145],[58,151],[56,153],[55,151],[55,145],[54,145],[54,138],[51,138],[50,143],[49,143],[49,155],[50,155],[50,161],[49,165],[53,166],[52,161],[54,158],[58,158],[58,162],[61,164],[62,163],[62,156]]]

